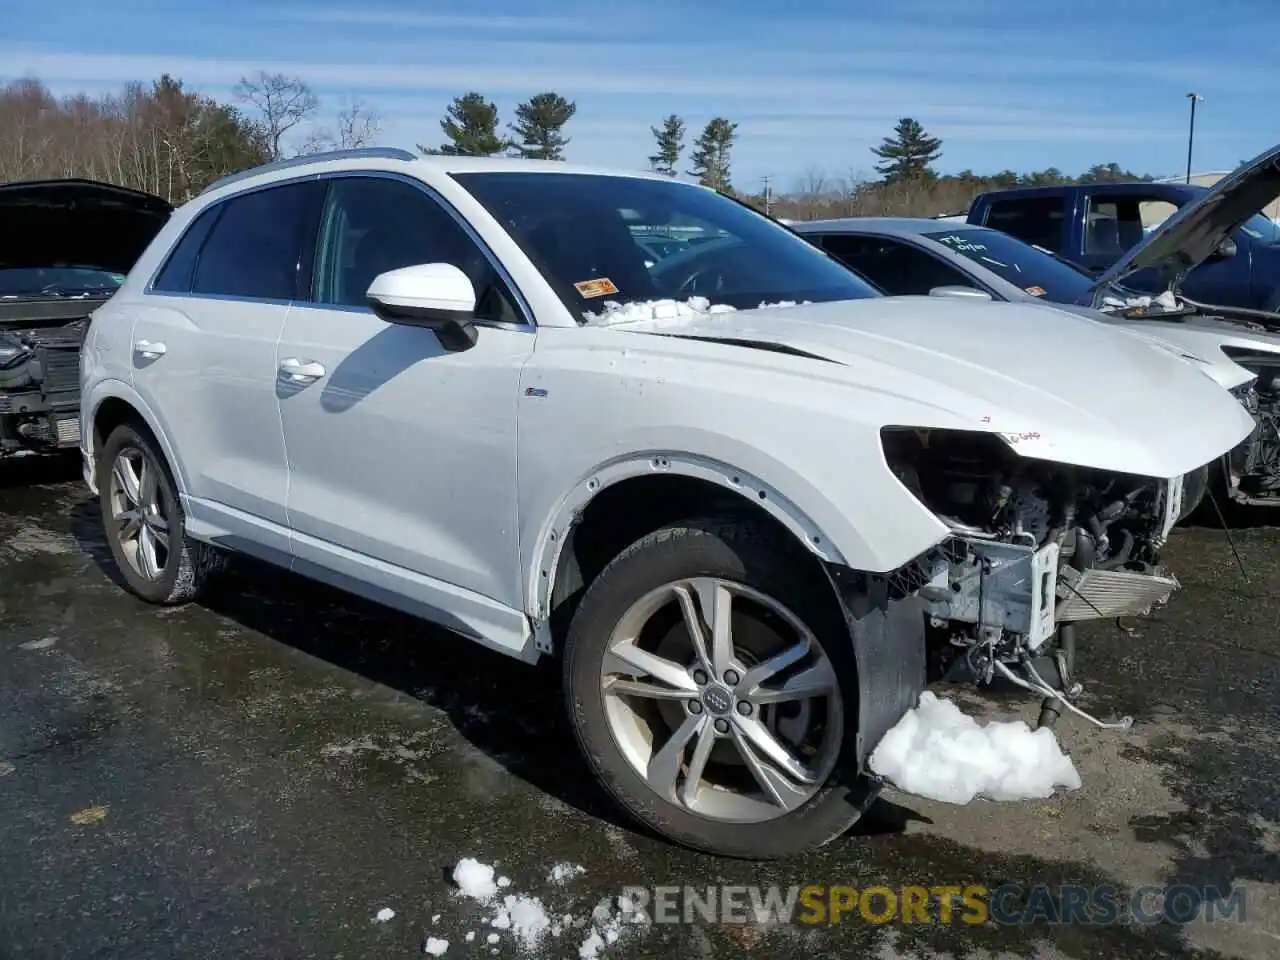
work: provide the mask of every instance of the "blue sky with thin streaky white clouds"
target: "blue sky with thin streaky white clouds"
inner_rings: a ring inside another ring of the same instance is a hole
[[[56,6],[56,15],[51,10]],[[230,97],[283,70],[383,116],[380,142],[438,143],[453,96],[503,122],[520,100],[575,100],[568,159],[643,168],[649,127],[739,123],[733,183],[872,175],[896,118],[943,140],[938,168],[1176,174],[1196,90],[1197,170],[1280,141],[1276,0],[0,0],[0,78],[55,92],[161,72]],[[692,138],[691,136],[689,137]],[[687,148],[685,164],[687,166]]]

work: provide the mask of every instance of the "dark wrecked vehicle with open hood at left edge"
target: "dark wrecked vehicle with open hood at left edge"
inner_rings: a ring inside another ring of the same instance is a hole
[[[83,179],[0,183],[0,460],[79,443],[79,349],[170,205]]]

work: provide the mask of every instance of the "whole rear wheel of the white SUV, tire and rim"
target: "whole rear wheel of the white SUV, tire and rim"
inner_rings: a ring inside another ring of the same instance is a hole
[[[96,470],[102,529],[128,589],[161,605],[196,599],[225,561],[187,536],[178,485],[151,434],[133,424],[115,428]]]

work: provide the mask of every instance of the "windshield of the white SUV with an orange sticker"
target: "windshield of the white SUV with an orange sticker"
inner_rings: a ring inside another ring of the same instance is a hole
[[[879,293],[808,241],[687,183],[573,173],[454,174],[511,233],[576,319],[607,302],[767,303]]]

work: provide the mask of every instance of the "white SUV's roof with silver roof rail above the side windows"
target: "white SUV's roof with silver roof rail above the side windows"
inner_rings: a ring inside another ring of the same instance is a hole
[[[237,186],[241,189],[260,183],[284,179],[285,177],[306,175],[308,173],[328,173],[330,170],[356,170],[356,169],[403,170],[410,175],[424,173],[465,174],[465,173],[558,173],[558,174],[588,174],[596,177],[627,177],[631,179],[671,179],[666,175],[641,172],[622,170],[607,166],[585,166],[580,164],[567,164],[562,160],[525,160],[522,157],[504,156],[442,156],[420,155],[399,147],[365,147],[357,150],[332,150],[321,154],[308,154],[278,160],[270,164],[252,166],[239,173],[229,174],[214,180],[201,192],[201,196],[221,191],[227,187]],[[692,186],[692,184],[691,184]]]

